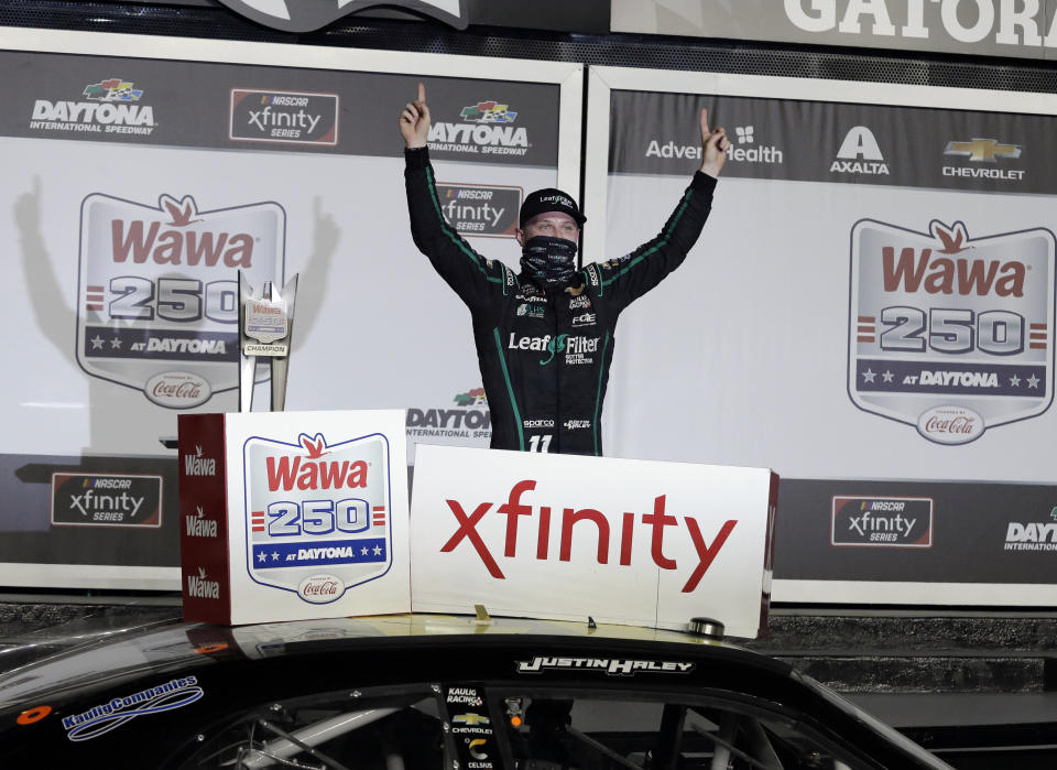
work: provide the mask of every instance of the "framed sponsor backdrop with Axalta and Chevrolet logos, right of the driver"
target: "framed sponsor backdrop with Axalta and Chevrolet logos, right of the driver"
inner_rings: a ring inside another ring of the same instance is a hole
[[[656,231],[701,107],[732,142],[700,241],[621,322],[610,453],[781,474],[777,601],[1057,599],[1057,101],[591,75],[586,259]]]

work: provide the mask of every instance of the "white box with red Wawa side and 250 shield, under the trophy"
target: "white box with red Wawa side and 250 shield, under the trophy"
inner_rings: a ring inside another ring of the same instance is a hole
[[[402,411],[182,415],[179,429],[186,617],[406,611]]]

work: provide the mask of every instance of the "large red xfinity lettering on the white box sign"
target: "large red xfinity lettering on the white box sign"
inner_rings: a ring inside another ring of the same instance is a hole
[[[682,566],[687,575],[682,590],[684,594],[689,594],[697,588],[701,578],[705,577],[730,533],[738,524],[737,519],[723,522],[719,532],[709,543],[696,518],[673,516],[666,512],[667,496],[665,495],[654,498],[652,512],[626,511],[610,517],[593,508],[559,508],[552,505],[533,508],[533,506],[522,501],[522,496],[535,490],[535,488],[536,481],[533,479],[517,481],[511,488],[506,501],[498,507],[494,502],[480,502],[473,507],[464,506],[459,500],[445,500],[458,523],[458,529],[440,547],[440,552],[449,553],[465,542],[480,557],[489,575],[500,581],[506,579],[495,556],[499,549],[502,549],[500,558],[515,558],[519,533],[521,533],[523,539],[527,538],[535,545],[533,555],[537,561],[553,560],[555,554],[552,549],[554,536],[552,518],[553,514],[560,511],[560,514],[555,517],[558,520],[554,522],[558,541],[557,560],[560,562],[573,561],[573,528],[577,525],[580,528],[587,527],[597,533],[595,561],[599,565],[609,565],[615,561],[620,566],[631,566],[633,562],[650,560],[661,570],[679,570],[680,565],[677,560],[668,558],[665,555],[665,538],[668,538],[669,543],[672,536],[688,538],[693,542],[697,554],[697,564],[683,564]],[[502,543],[492,543],[491,547],[477,529],[486,516],[506,517],[505,538]],[[522,517],[525,519],[526,528],[519,527]],[[526,529],[533,524],[535,524],[534,531],[526,533]],[[644,528],[650,533],[649,555],[635,553],[633,549],[634,534],[636,529],[640,528]],[[493,549],[495,549],[495,553],[493,553]],[[522,550],[524,551],[524,549]]]

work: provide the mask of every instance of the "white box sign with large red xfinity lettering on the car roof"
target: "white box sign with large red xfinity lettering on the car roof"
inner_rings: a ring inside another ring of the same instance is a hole
[[[412,609],[756,637],[777,476],[766,469],[419,445]]]

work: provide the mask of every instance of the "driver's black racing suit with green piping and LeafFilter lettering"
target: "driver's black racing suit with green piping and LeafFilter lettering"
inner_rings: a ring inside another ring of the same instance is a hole
[[[415,246],[470,308],[492,448],[601,455],[617,318],[683,262],[708,218],[716,180],[697,172],[660,235],[551,288],[470,248],[440,212],[428,151],[404,156]]]

